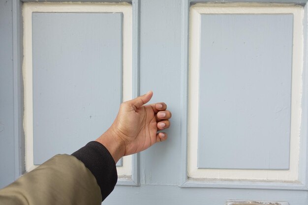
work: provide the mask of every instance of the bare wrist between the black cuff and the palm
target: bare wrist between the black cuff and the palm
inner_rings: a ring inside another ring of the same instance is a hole
[[[115,163],[117,163],[124,156],[125,143],[117,137],[116,133],[113,132],[111,128],[95,141],[99,142],[108,149]]]

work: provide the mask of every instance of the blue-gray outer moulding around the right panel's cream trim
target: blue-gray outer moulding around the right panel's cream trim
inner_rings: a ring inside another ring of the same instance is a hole
[[[207,0],[204,0],[202,2],[207,2]],[[282,1],[279,1],[282,2]],[[297,183],[272,183],[272,182],[258,182],[255,183],[254,181],[246,181],[246,185],[243,186],[241,181],[216,181],[216,180],[197,180],[193,181],[190,178],[187,177],[187,123],[186,123],[186,114],[185,111],[188,111],[187,107],[187,87],[185,87],[185,84],[187,84],[188,79],[188,22],[189,22],[189,5],[193,3],[193,1],[186,1],[182,0],[182,64],[181,64],[181,82],[184,84],[181,87],[181,109],[182,109],[182,118],[181,118],[181,177],[179,178],[179,186],[180,187],[189,187],[190,189],[193,187],[204,187],[204,188],[223,188],[227,187],[230,189],[239,189],[239,188],[246,188],[246,189],[274,189],[274,190],[308,190],[307,184],[308,184],[308,171],[306,167],[308,166],[308,160],[307,160],[307,147],[308,147],[308,141],[307,141],[307,97],[303,97],[303,113],[302,115],[305,116],[302,118],[302,127],[301,129],[301,149],[300,149],[300,164],[299,164],[299,181]],[[307,16],[307,4],[304,7],[304,43],[305,43],[305,54],[307,54],[307,22],[308,22],[308,16]],[[304,75],[303,75],[303,81],[307,81],[308,76],[307,72],[305,72],[305,69],[307,68],[307,55],[304,55]],[[306,73],[306,74],[305,74]],[[306,83],[307,84],[307,83]],[[304,83],[304,85],[306,85]],[[303,93],[307,89],[307,85],[303,88]],[[220,190],[220,189],[218,189]],[[234,197],[235,199],[235,197]],[[307,203],[307,202],[305,202]],[[296,203],[295,203],[296,204]]]

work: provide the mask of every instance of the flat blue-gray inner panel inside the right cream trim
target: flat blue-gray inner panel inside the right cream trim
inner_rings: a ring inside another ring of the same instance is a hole
[[[288,169],[293,16],[201,21],[198,167]]]

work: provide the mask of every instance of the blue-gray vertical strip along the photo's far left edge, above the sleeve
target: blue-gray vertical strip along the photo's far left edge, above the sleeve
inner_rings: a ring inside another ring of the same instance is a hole
[[[0,1],[0,188],[15,179],[12,1]]]

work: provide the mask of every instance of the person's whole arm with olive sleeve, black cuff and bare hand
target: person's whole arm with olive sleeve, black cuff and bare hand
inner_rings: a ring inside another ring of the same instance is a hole
[[[153,92],[121,104],[112,126],[72,155],[56,155],[0,190],[6,205],[99,205],[117,182],[116,162],[167,139],[171,113],[164,103],[144,105]]]

